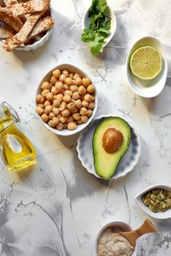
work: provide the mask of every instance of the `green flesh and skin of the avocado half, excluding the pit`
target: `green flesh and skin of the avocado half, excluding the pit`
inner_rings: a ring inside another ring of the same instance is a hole
[[[104,150],[102,138],[109,128],[115,128],[123,135],[123,143],[114,153]],[[93,138],[94,167],[96,173],[102,178],[110,178],[115,173],[118,162],[129,148],[131,129],[123,118],[109,117],[104,119],[95,129]]]

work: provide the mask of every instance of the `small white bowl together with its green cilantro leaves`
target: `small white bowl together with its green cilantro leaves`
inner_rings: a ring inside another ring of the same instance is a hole
[[[113,9],[106,0],[93,0],[84,15],[81,39],[88,44],[91,53],[96,56],[115,34],[116,18]]]

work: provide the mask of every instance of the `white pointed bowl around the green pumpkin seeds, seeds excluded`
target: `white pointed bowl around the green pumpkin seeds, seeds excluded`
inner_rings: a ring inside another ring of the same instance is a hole
[[[142,202],[142,199],[141,199],[142,195],[144,195],[148,191],[151,191],[152,189],[158,189],[158,188],[171,191],[171,187],[169,185],[155,184],[151,187],[148,187],[147,189],[142,190],[142,192],[140,192],[139,194],[137,194],[134,197],[134,200],[137,203],[137,205],[140,206],[140,208],[142,208],[142,211],[145,211],[145,213],[148,214],[149,216],[151,216],[155,219],[170,219],[171,218],[171,209],[164,211],[164,212],[153,213],[152,211],[150,211],[148,206],[145,206],[144,203]]]

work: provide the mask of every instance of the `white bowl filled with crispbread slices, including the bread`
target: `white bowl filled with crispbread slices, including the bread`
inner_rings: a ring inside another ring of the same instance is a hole
[[[0,5],[0,40],[7,52],[36,50],[50,38],[50,0],[1,0]]]

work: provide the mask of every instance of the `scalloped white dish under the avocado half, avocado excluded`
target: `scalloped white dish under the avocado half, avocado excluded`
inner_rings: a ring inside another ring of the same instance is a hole
[[[88,129],[85,129],[77,140],[77,154],[83,167],[86,168],[88,173],[93,174],[96,178],[102,178],[96,173],[94,168],[94,154],[92,148],[92,141],[94,136],[94,130],[97,125],[101,123],[105,118],[109,116],[99,116],[89,125]],[[128,150],[121,158],[118,166],[115,170],[114,175],[108,179],[116,179],[126,176],[127,173],[131,172],[135,165],[137,165],[140,157],[140,138],[134,128],[131,127],[132,138]]]

